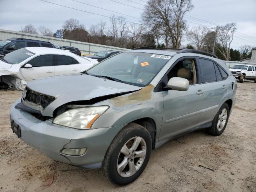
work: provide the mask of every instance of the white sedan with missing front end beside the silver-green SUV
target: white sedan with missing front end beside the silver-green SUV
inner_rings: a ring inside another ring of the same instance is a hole
[[[27,82],[80,73],[97,63],[97,60],[60,49],[26,47],[0,56],[0,82],[23,89]]]

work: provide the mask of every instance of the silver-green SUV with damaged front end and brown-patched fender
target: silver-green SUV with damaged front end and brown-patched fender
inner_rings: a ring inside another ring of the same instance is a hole
[[[129,50],[81,74],[30,82],[10,110],[12,130],[53,160],[128,184],[168,140],[225,130],[236,79],[199,53]]]

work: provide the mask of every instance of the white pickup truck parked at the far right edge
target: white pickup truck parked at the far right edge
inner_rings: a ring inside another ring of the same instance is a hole
[[[230,69],[230,71],[240,83],[243,83],[244,79],[254,80],[256,83],[256,69],[253,65],[235,65]]]

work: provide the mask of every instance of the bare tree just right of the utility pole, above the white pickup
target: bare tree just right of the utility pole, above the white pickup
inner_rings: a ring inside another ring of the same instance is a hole
[[[235,30],[236,24],[228,23],[225,26],[221,26],[217,33],[220,45],[217,44],[216,49],[226,60],[230,58],[230,44],[233,40]]]

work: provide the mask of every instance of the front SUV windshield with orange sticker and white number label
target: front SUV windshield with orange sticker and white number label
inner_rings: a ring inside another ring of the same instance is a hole
[[[152,53],[123,52],[102,61],[86,71],[86,74],[144,87],[170,58]]]

